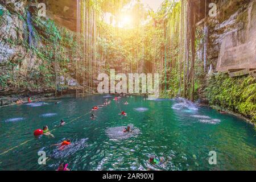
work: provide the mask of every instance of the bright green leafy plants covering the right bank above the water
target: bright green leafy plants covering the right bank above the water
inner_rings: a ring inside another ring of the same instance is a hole
[[[255,78],[230,78],[224,73],[213,74],[206,89],[211,105],[219,105],[256,121],[256,80]]]

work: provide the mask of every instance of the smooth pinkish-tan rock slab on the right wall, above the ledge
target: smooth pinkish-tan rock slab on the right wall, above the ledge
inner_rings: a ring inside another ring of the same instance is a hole
[[[245,16],[245,22],[237,22],[240,16]],[[238,10],[221,26],[233,29],[221,36],[217,71],[256,68],[256,2],[245,11]]]

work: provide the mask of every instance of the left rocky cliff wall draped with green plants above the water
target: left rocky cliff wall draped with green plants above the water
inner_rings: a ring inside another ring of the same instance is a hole
[[[40,19],[25,1],[0,0],[0,90],[77,85],[73,72],[75,34]]]

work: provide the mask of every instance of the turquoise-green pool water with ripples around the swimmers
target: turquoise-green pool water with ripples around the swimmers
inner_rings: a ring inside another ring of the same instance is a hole
[[[254,128],[232,115],[222,115],[207,107],[184,107],[182,102],[177,104],[173,100],[133,96],[122,98],[119,103],[112,101],[96,111],[97,118],[92,120],[86,113],[94,105],[102,104],[103,96],[61,100],[58,104],[46,102],[0,109],[0,170],[55,170],[60,162],[68,163],[72,170],[256,168]],[[129,105],[123,105],[125,101]],[[126,111],[127,117],[118,115],[121,110]],[[60,119],[67,124],[57,127]],[[43,125],[53,130],[55,138],[33,137],[33,131]],[[138,129],[138,133],[117,139],[108,135],[108,130],[126,125]],[[72,147],[61,152],[50,147],[68,138],[74,143]],[[42,150],[48,156],[46,165],[38,164],[38,152]],[[210,151],[216,151],[217,165],[209,164]],[[148,164],[150,155],[164,158],[164,164]]]

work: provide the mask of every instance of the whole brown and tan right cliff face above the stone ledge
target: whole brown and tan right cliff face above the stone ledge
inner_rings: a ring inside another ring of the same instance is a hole
[[[197,27],[208,28],[207,47],[201,46],[199,54],[204,57],[209,71],[256,68],[256,1],[232,0],[217,3],[217,16],[207,17]],[[202,58],[203,59],[203,58]]]

